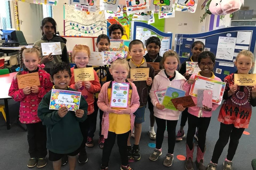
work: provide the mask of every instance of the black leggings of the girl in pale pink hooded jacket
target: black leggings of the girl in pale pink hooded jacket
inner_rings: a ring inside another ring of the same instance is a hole
[[[176,139],[176,125],[178,120],[165,120],[156,118],[157,122],[157,137],[156,137],[156,148],[161,149],[162,143],[164,140],[164,133],[167,124],[167,133],[168,133],[168,153],[173,154],[175,139]],[[167,123],[165,123],[167,122]],[[105,146],[104,146],[105,147]]]

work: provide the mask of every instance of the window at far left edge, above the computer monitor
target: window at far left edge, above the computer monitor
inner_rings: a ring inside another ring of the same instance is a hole
[[[10,1],[0,1],[0,29],[12,28]]]

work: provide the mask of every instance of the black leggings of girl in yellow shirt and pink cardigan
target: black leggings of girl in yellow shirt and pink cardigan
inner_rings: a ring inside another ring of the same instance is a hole
[[[114,132],[108,131],[108,138],[105,139],[104,148],[102,151],[102,163],[101,163],[102,167],[108,166],[109,157],[110,157],[112,148],[115,144],[116,136],[117,136],[117,145],[118,145],[119,153],[121,156],[121,163],[123,166],[128,165],[127,140],[130,132],[131,131],[128,131],[126,133],[117,135]]]

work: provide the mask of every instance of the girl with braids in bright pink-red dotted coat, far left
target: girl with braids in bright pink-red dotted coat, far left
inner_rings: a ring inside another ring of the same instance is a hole
[[[46,129],[37,116],[37,108],[43,96],[52,89],[50,75],[39,67],[40,52],[39,48],[20,49],[20,71],[18,75],[28,73],[38,73],[40,86],[30,85],[25,88],[18,87],[18,77],[12,79],[9,96],[14,101],[20,101],[21,123],[26,124],[28,131],[29,155],[28,167],[42,168],[46,165]],[[38,76],[37,75],[37,76]]]

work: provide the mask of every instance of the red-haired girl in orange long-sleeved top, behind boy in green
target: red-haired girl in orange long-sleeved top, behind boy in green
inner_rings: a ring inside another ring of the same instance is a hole
[[[89,62],[90,49],[85,45],[76,45],[72,51],[72,58],[75,61],[75,66],[71,70],[70,88],[75,89],[82,93],[86,102],[88,103],[87,119],[84,122],[80,122],[81,132],[83,134],[83,143],[78,156],[79,163],[86,163],[88,158],[85,150],[86,141],[88,140],[89,129],[96,129],[97,113],[94,112],[94,93],[99,92],[101,85],[95,70],[93,81],[82,81],[75,82],[74,69],[85,68]]]

